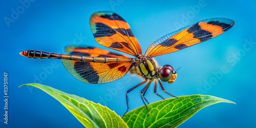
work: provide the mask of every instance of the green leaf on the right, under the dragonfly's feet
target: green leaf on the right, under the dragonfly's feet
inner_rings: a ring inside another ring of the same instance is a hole
[[[127,113],[123,120],[129,127],[177,127],[206,106],[230,100],[208,95],[180,96],[148,104]],[[236,103],[234,103],[236,104]]]

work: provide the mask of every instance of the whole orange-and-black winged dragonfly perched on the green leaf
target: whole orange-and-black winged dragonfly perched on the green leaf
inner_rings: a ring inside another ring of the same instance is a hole
[[[177,73],[172,66],[158,66],[154,57],[173,53],[212,39],[226,32],[233,25],[234,21],[227,18],[202,20],[197,24],[164,35],[153,42],[145,54],[142,54],[140,45],[130,26],[122,17],[110,11],[96,12],[90,18],[90,26],[95,40],[102,46],[132,55],[133,58],[99,48],[73,46],[66,48],[68,54],[27,50],[20,52],[20,55],[29,58],[62,59],[62,64],[67,71],[84,83],[108,83],[122,78],[127,72],[136,74],[144,81],[126,92],[127,110],[124,115],[129,111],[128,94],[145,83],[146,85],[141,90],[140,95],[148,115],[145,102],[147,104],[149,102],[144,95],[150,84],[154,82],[154,92],[162,99],[164,98],[157,93],[157,83],[163,92],[175,97],[165,91],[161,81],[173,83],[177,78]]]

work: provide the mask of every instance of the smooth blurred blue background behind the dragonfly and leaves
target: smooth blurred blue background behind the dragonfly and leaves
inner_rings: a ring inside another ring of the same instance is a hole
[[[22,0],[24,2],[25,0]],[[82,124],[57,100],[41,90],[18,86],[39,82],[55,89],[101,102],[122,115],[126,110],[125,92],[141,82],[129,74],[105,84],[85,84],[72,77],[61,60],[29,59],[19,55],[24,50],[65,53],[69,45],[97,44],[91,33],[89,18],[97,11],[114,11],[129,23],[143,52],[159,37],[212,17],[226,17],[236,22],[233,28],[217,38],[172,54],[156,57],[160,66],[172,65],[178,70],[175,83],[164,83],[175,96],[207,94],[232,100],[237,104],[219,103],[209,106],[180,127],[255,127],[255,1],[34,1],[25,10],[18,1],[3,1],[1,15],[1,74],[8,73],[8,124],[3,122],[4,102],[0,104],[0,127],[82,127]],[[112,5],[112,4],[115,5]],[[192,7],[192,8],[191,8]],[[195,10],[194,7],[200,7]],[[13,22],[12,9],[19,10]],[[22,12],[24,11],[24,12]],[[184,16],[187,19],[184,19]],[[78,38],[79,36],[82,36]],[[249,47],[247,41],[254,41]],[[245,47],[244,47],[245,46]],[[222,67],[225,73],[220,73]],[[51,68],[46,72],[44,68]],[[219,73],[219,77],[215,74]],[[221,75],[222,74],[222,75]],[[3,75],[1,75],[3,80]],[[206,86],[206,81],[210,85]],[[109,90],[122,89],[117,94]],[[141,106],[140,87],[130,93],[133,110]],[[3,83],[0,88],[3,93]],[[159,92],[164,97],[169,97]],[[107,97],[111,95],[111,97]],[[146,94],[150,102],[161,100],[153,86]],[[0,98],[2,99],[2,98]],[[103,99],[100,101],[100,99]]]

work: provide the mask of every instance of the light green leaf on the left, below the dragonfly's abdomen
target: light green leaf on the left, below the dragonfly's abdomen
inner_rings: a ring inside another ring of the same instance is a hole
[[[23,86],[32,86],[48,93],[86,127],[127,127],[120,116],[106,106],[38,83],[24,84],[20,87]]]

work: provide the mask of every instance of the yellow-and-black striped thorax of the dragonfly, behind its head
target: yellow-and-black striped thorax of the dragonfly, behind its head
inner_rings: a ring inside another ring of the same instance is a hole
[[[137,54],[135,59],[132,60],[132,63],[130,73],[137,74],[145,79],[158,78],[157,62],[151,56]]]

